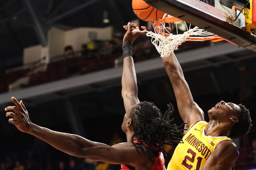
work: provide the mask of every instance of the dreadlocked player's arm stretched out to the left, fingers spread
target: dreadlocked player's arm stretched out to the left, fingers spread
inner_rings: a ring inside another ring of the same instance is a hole
[[[137,149],[131,143],[120,143],[114,146],[108,146],[102,143],[93,142],[81,136],[52,131],[31,123],[22,101],[20,103],[12,97],[16,106],[5,108],[6,117],[9,123],[14,124],[20,131],[29,133],[40,138],[62,152],[76,157],[86,157],[96,161],[104,161],[112,164],[131,164],[139,161],[145,161],[142,151]],[[11,112],[11,111],[14,111]],[[131,156],[132,155],[132,156]]]

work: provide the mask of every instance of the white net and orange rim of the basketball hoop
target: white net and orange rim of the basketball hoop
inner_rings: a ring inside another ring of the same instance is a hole
[[[172,17],[168,15],[168,17],[164,17],[156,23],[154,28],[155,32],[147,32],[147,36],[151,37],[152,44],[156,47],[156,50],[161,55],[161,57],[170,56],[174,50],[178,49],[178,46],[185,41],[221,41],[220,36],[217,36],[211,32],[205,31],[203,29],[199,29],[197,26],[194,28],[189,28],[185,21],[187,31],[183,34],[178,34],[177,22],[182,21],[178,18]],[[167,27],[165,27],[165,23],[176,22],[176,32],[177,34],[172,34],[168,31]],[[196,37],[198,36],[198,37]],[[200,37],[199,37],[200,36]]]

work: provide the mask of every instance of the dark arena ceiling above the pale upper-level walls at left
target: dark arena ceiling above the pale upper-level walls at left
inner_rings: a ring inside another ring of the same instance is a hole
[[[21,65],[23,49],[46,45],[51,26],[116,29],[135,19],[132,0],[0,0],[0,73]],[[103,23],[103,11],[109,23]]]

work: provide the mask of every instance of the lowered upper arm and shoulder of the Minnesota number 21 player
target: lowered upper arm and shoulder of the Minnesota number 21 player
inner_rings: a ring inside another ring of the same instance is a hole
[[[222,141],[211,153],[202,170],[223,169],[230,170],[239,156],[236,145],[228,140]]]

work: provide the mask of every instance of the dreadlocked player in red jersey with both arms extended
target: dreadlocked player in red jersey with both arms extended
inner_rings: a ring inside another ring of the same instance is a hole
[[[142,27],[146,29],[146,27]],[[122,96],[125,115],[122,130],[126,133],[127,142],[113,146],[93,142],[83,137],[52,131],[31,123],[28,111],[22,101],[14,97],[16,106],[5,108],[7,117],[20,131],[29,133],[44,140],[53,147],[76,157],[86,157],[96,161],[122,164],[122,170],[164,170],[163,153],[165,144],[180,142],[182,132],[169,119],[173,108],[164,115],[149,102],[140,102],[137,95],[136,74],[132,59],[132,42],[140,34],[139,25],[128,23],[128,31],[124,35],[124,69],[122,75]],[[13,112],[14,113],[13,113]],[[163,152],[163,153],[162,153]]]

